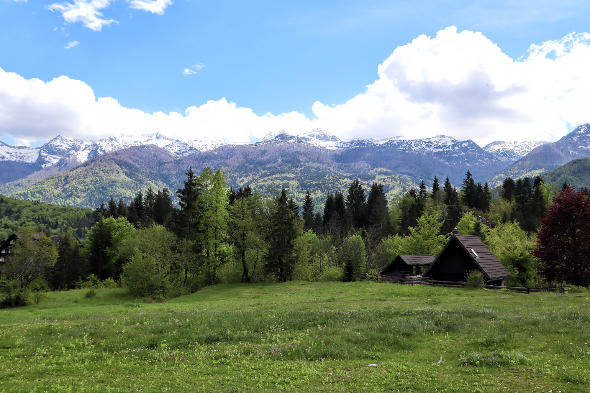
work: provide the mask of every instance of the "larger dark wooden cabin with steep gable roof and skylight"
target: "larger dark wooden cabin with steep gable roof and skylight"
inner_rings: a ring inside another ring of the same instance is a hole
[[[510,277],[479,237],[459,235],[455,230],[423,276],[432,280],[466,281],[471,270],[480,270],[490,285],[501,285],[502,280]]]

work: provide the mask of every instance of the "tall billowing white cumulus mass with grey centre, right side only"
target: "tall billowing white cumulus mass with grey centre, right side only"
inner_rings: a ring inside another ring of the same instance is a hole
[[[570,34],[514,61],[481,33],[448,27],[396,48],[365,93],[313,112],[345,137],[555,140],[590,122],[589,44],[589,34]]]

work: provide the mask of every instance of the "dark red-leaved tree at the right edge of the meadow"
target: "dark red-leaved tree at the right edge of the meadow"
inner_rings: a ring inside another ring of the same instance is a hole
[[[590,285],[590,195],[564,185],[541,219],[533,255],[550,282]]]

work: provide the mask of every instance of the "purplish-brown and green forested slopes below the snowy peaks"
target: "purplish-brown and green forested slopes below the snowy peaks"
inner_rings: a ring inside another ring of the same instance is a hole
[[[471,169],[476,180],[483,181],[503,168],[503,163],[471,141],[455,145],[460,152],[447,148],[421,150],[407,141],[400,146],[390,143],[326,150],[309,143],[273,140],[221,146],[182,158],[153,145],[135,146],[91,158],[33,185],[31,179],[23,179],[0,186],[0,192],[91,208],[100,204],[105,195],[130,201],[136,192],[146,192],[150,187],[175,190],[186,168],[192,166],[199,172],[206,167],[221,169],[233,188],[250,185],[266,191],[269,187],[284,187],[298,203],[303,202],[309,187],[316,203],[323,205],[327,194],[345,192],[356,178],[366,186],[380,182],[391,197],[417,187],[422,180],[430,185],[435,175],[448,176],[451,183],[458,185],[466,169]]]

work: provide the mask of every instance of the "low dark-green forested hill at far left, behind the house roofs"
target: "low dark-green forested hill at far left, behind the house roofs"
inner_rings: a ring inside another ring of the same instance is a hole
[[[37,232],[49,230],[53,235],[63,235],[71,230],[74,236],[84,237],[92,222],[91,209],[48,205],[0,195],[0,241],[26,224],[31,224]]]

